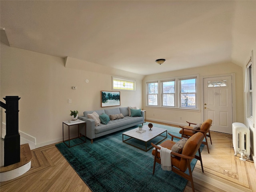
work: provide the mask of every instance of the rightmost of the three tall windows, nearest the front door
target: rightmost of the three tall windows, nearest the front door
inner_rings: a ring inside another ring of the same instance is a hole
[[[196,108],[196,78],[180,79],[180,107]]]

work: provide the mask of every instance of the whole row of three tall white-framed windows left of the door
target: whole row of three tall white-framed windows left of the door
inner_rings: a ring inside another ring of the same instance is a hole
[[[197,109],[197,79],[198,75],[146,82],[147,105]]]

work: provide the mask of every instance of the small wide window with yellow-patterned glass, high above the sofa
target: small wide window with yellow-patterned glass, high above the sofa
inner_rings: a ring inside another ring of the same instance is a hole
[[[113,90],[132,90],[135,91],[135,81],[112,77]]]

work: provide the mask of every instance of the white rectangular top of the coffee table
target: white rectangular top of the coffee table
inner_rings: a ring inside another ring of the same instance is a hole
[[[147,141],[151,140],[152,138],[155,138],[156,136],[167,131],[167,129],[158,128],[158,127],[154,127],[154,126],[153,126],[152,130],[150,131],[148,128],[148,125],[144,125],[142,129],[146,130],[146,131],[143,133],[136,132],[136,130],[139,130],[139,128],[135,128],[135,129],[123,132],[122,134],[132,137],[132,138],[136,138],[138,140],[142,140],[144,142],[147,142]]]

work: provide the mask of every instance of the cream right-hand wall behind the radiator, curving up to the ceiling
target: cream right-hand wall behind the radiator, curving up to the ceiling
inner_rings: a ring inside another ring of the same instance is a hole
[[[236,1],[234,16],[234,32],[232,34],[232,60],[241,64],[243,67],[243,82],[245,82],[246,64],[248,63],[251,56],[253,62],[254,116],[253,119],[247,118],[248,101],[246,93],[244,92],[244,124],[250,128],[251,155],[254,159],[254,162],[256,162],[256,1]],[[256,167],[255,163],[254,166]]]

